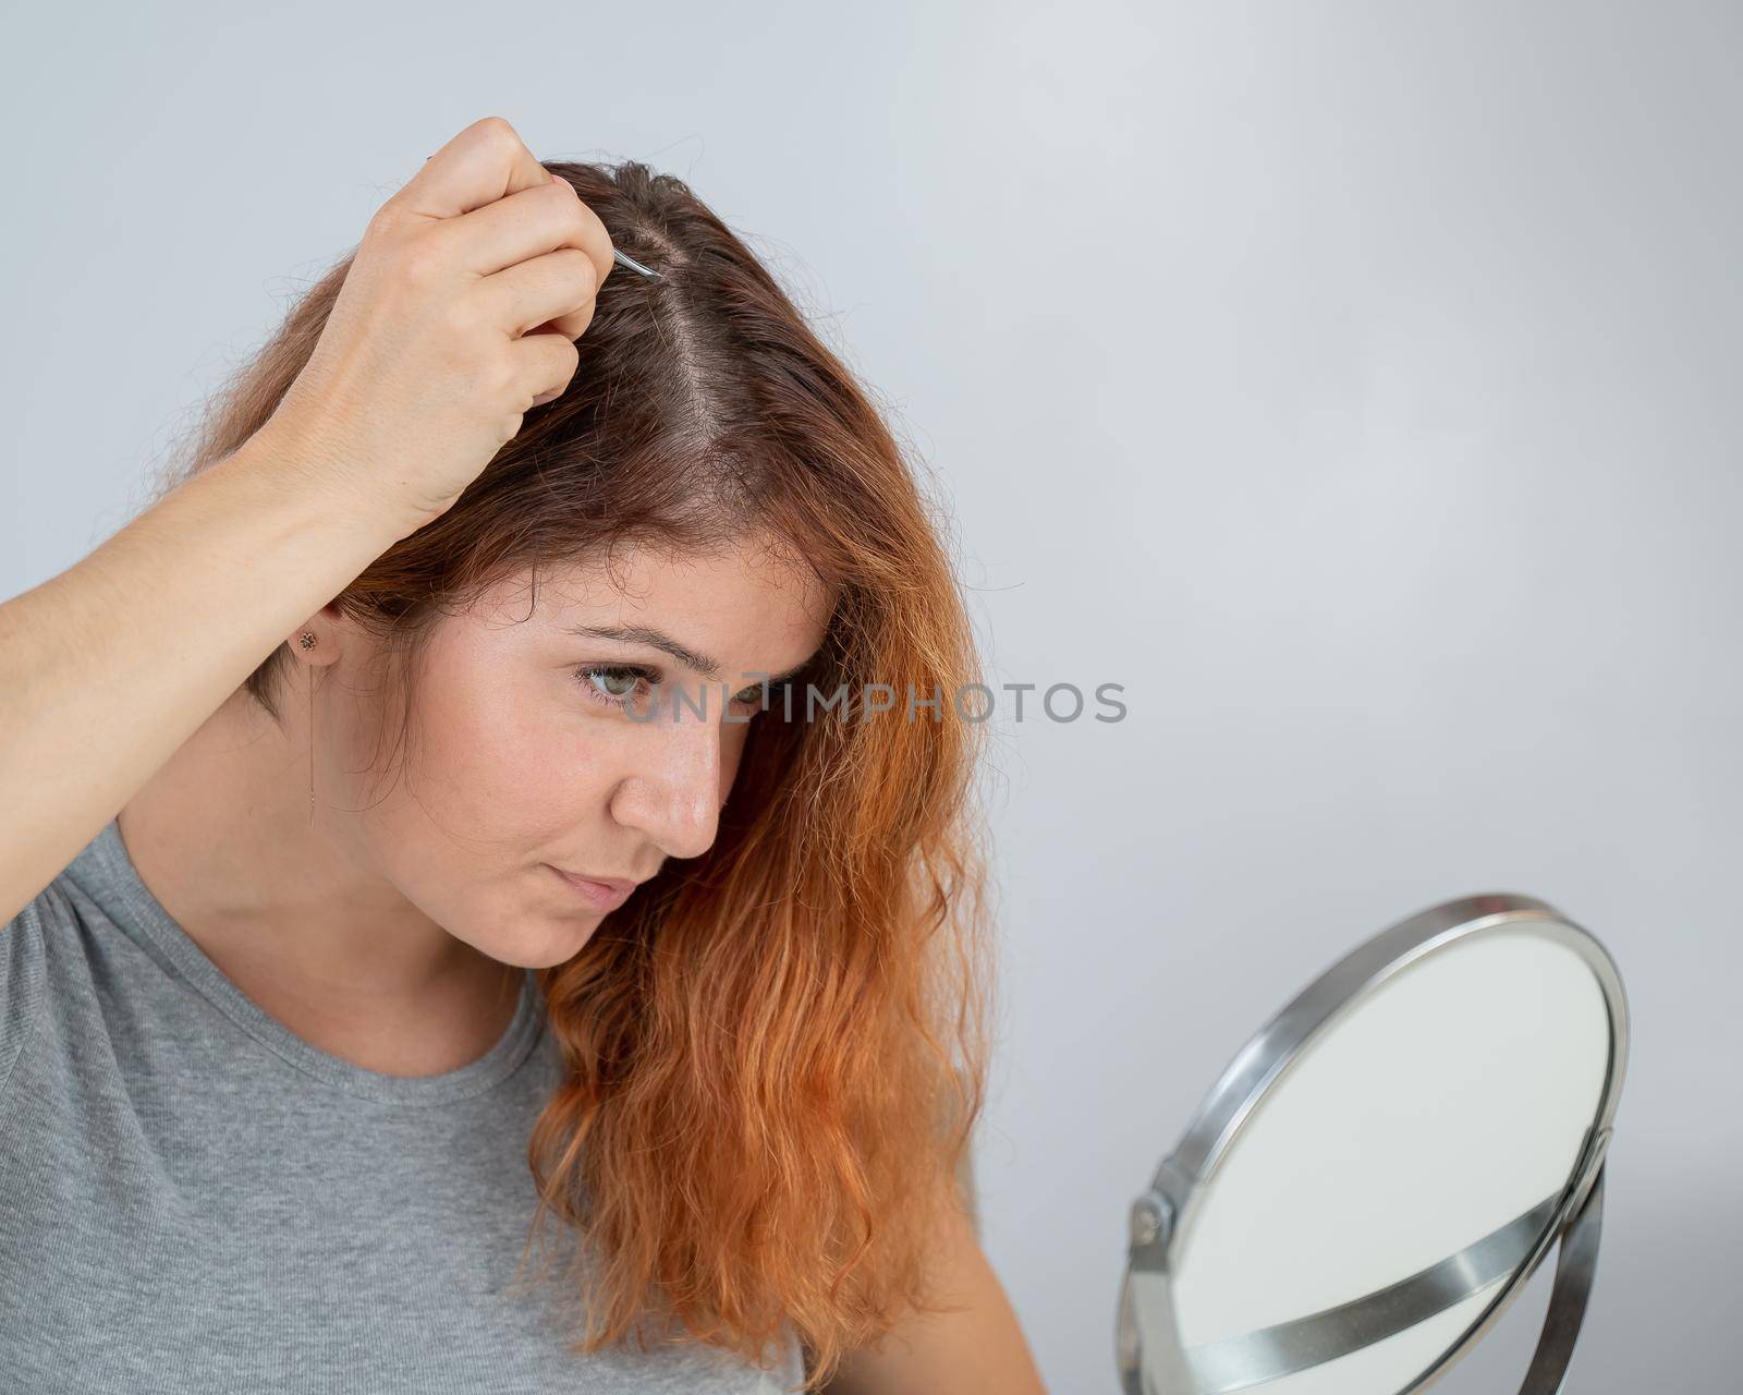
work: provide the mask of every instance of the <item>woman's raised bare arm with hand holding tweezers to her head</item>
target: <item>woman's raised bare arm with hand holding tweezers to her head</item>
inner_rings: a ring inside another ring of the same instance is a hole
[[[472,122],[370,220],[317,321],[263,350],[256,399],[319,330],[267,424],[0,607],[0,922],[568,385],[610,269],[575,188],[500,117]]]

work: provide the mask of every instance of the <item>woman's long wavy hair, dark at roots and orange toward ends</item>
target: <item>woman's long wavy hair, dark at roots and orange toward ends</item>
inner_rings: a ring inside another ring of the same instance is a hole
[[[744,242],[671,174],[546,167],[664,281],[607,277],[563,396],[333,605],[392,659],[404,746],[425,638],[488,586],[619,541],[772,537],[835,596],[812,685],[943,694],[919,718],[770,704],[708,853],[537,971],[563,1079],[528,1140],[533,1231],[558,1215],[596,1250],[572,1348],[664,1315],[763,1365],[790,1324],[821,1388],[903,1313],[952,1311],[927,1256],[946,1207],[973,1214],[992,1013],[981,724],[957,698],[973,626],[943,511]],[[272,417],[354,256],[207,401],[166,490]],[[286,642],[246,680],[274,720],[293,666]]]

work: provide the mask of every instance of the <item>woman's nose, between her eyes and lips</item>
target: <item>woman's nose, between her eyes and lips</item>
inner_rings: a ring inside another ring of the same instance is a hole
[[[730,732],[730,729],[727,729]],[[727,800],[734,738],[718,720],[662,711],[638,732],[629,772],[612,795],[612,818],[645,834],[669,858],[697,858],[715,844]]]

